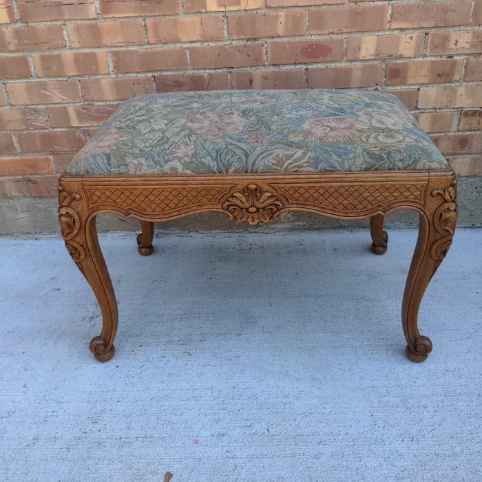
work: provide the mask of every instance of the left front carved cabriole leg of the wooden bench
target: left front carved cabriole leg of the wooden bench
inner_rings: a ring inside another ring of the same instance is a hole
[[[96,216],[89,216],[81,187],[75,192],[59,187],[59,222],[65,247],[96,295],[102,313],[102,332],[90,342],[100,362],[114,356],[117,331],[117,302],[114,288],[98,244]]]

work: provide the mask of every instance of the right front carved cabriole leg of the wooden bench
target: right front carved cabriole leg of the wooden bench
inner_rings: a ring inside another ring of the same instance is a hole
[[[423,362],[432,350],[430,339],[419,333],[417,315],[423,293],[452,244],[457,222],[457,181],[431,189],[428,196],[426,211],[420,213],[419,237],[402,304],[406,354],[412,362]]]

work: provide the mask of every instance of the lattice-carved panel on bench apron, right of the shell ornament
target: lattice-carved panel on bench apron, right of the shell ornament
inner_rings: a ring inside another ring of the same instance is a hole
[[[423,202],[425,184],[328,185],[279,187],[289,202],[322,205],[336,211],[368,209],[391,202]]]

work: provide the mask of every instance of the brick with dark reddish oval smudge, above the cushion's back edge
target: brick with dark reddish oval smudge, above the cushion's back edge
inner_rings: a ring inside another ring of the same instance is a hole
[[[343,60],[343,39],[268,42],[268,61],[271,64],[341,60]]]

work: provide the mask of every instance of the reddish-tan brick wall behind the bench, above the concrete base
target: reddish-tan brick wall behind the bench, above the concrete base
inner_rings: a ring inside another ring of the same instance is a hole
[[[125,98],[378,87],[482,175],[482,0],[0,0],[0,197],[50,196]]]

